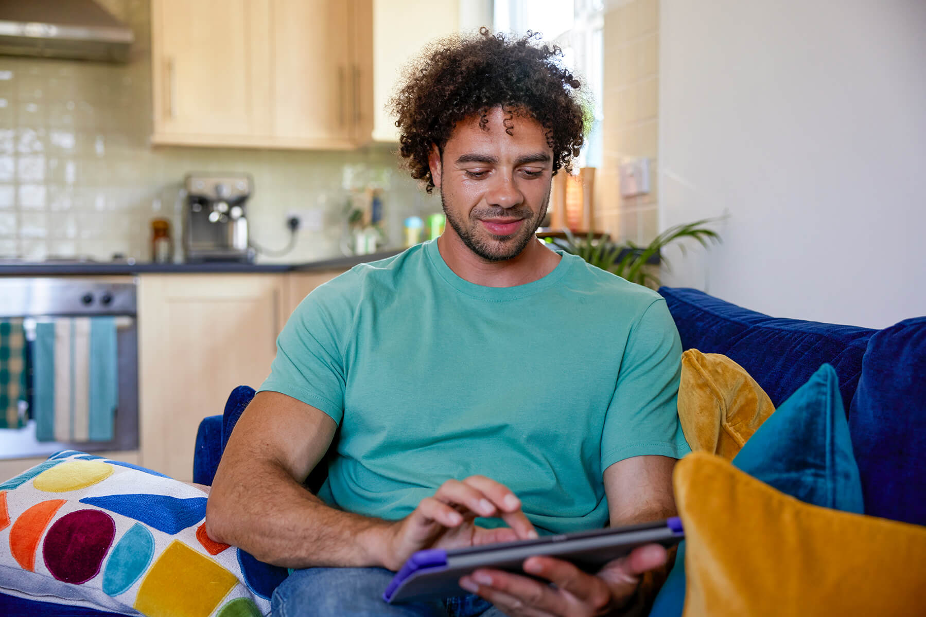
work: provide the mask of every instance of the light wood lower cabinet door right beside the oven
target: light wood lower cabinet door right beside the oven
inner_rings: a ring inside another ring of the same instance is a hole
[[[196,429],[269,374],[285,275],[144,275],[138,288],[141,463],[193,477]]]

